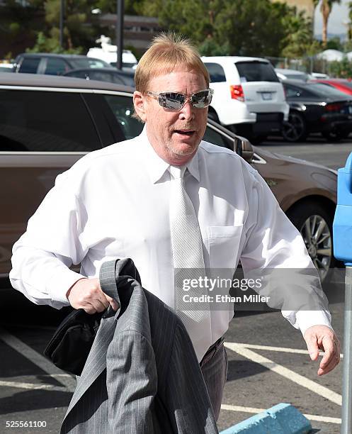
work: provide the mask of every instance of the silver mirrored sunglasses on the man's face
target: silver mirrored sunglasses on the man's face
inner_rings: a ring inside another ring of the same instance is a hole
[[[194,94],[181,94],[180,92],[156,92],[147,91],[147,95],[154,96],[158,99],[159,105],[164,109],[178,111],[186,104],[191,102],[192,106],[196,109],[205,109],[212,102],[212,89],[205,89],[203,91],[195,92]]]

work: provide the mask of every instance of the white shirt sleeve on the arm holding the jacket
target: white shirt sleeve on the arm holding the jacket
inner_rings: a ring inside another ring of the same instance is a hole
[[[66,294],[85,277],[69,269],[86,255],[81,243],[84,206],[73,192],[69,171],[60,174],[26,232],[13,245],[10,281],[35,304],[69,305]]]

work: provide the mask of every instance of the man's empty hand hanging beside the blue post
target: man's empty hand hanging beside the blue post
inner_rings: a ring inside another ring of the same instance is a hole
[[[307,328],[303,335],[307,343],[310,358],[317,360],[319,350],[325,352],[320,362],[318,375],[324,375],[332,371],[340,362],[340,343],[334,331],[327,325],[313,325]]]

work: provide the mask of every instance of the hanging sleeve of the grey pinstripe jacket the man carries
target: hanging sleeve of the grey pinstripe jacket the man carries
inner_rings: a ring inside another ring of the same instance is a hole
[[[154,414],[157,366],[152,344],[141,333],[125,330],[106,355],[109,433],[158,433]]]

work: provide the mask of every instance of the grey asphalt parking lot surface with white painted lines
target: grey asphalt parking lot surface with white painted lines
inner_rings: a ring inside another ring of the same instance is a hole
[[[336,169],[344,165],[352,142],[270,140],[261,147]],[[342,338],[344,285],[334,282],[326,291],[334,329]],[[48,362],[42,350],[64,313],[35,306],[8,287],[1,289],[0,313],[0,432],[57,433],[75,380]],[[287,402],[310,418],[315,433],[339,433],[343,362],[317,377],[318,362],[310,362],[300,332],[279,312],[238,313],[225,341],[229,373],[220,430]]]

